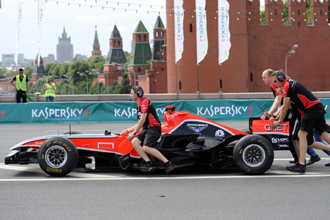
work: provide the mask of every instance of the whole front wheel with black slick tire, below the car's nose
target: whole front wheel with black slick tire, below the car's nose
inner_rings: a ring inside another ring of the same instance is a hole
[[[66,176],[77,162],[77,147],[67,138],[49,138],[39,148],[39,166],[50,176]]]

